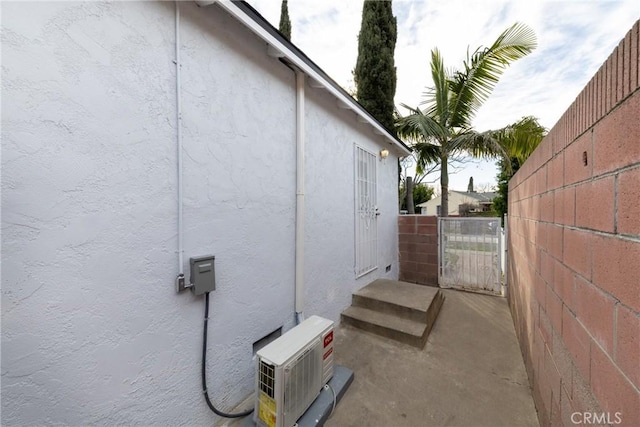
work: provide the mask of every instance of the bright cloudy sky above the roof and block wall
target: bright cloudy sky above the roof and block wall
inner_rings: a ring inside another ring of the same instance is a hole
[[[248,2],[278,26],[280,0]],[[468,46],[489,45],[519,21],[534,29],[538,48],[505,71],[474,123],[486,130],[532,115],[551,128],[640,17],[640,1],[394,0],[393,11],[398,107],[417,106],[431,85],[431,49],[457,68]],[[353,88],[361,13],[360,0],[289,0],[292,41],[346,89]],[[450,188],[466,190],[470,176],[477,186],[494,185],[494,163],[466,164],[450,176]]]

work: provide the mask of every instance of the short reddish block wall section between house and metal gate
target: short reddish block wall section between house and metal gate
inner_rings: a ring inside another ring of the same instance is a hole
[[[400,280],[438,286],[438,217],[400,215]]]

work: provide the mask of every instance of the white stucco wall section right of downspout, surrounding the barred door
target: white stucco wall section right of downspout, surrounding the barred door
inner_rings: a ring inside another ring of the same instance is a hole
[[[305,312],[338,321],[354,290],[378,277],[397,278],[397,157],[376,161],[378,269],[355,280],[355,147],[379,158],[384,146],[325,91],[306,91]]]

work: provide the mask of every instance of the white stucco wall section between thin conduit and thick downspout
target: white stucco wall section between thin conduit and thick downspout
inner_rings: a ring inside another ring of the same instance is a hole
[[[209,386],[228,407],[253,387],[252,343],[294,322],[295,80],[222,10],[181,6],[185,262],[216,256]]]

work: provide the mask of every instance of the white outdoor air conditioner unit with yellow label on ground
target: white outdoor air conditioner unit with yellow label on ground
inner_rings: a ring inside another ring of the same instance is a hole
[[[333,376],[333,322],[311,316],[256,355],[255,421],[291,427]]]

